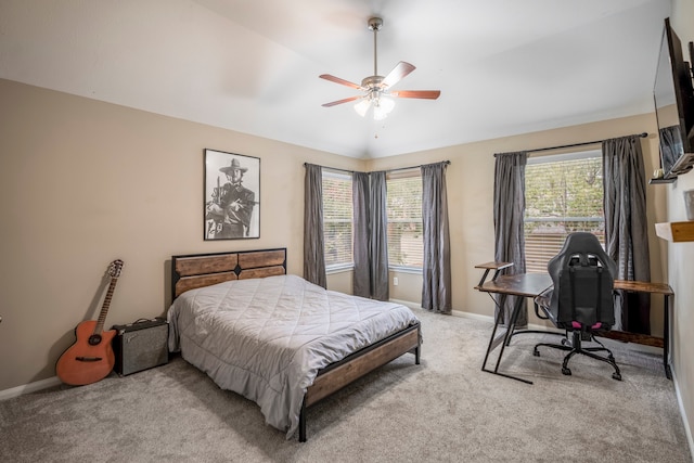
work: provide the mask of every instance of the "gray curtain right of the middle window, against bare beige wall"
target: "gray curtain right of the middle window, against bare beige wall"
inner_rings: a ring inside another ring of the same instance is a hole
[[[451,313],[451,250],[448,230],[446,166],[437,163],[422,166],[422,222],[424,269],[422,307],[439,313]]]

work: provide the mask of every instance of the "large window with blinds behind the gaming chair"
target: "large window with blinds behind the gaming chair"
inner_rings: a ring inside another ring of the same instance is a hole
[[[528,158],[525,170],[525,256],[528,273],[547,263],[569,233],[605,244],[602,153],[597,150]]]

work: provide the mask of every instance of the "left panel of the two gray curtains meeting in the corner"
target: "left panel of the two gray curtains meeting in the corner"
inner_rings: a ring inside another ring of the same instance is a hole
[[[355,274],[352,293],[355,296],[371,297],[371,242],[369,207],[369,173],[354,172],[351,176],[352,191],[352,226],[354,226],[354,259]]]

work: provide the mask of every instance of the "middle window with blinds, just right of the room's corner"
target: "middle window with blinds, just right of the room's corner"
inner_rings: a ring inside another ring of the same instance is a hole
[[[420,169],[389,172],[386,177],[388,207],[388,265],[421,269],[422,175]]]

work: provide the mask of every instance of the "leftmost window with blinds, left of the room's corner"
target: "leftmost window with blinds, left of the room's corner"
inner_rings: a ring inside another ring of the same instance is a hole
[[[323,169],[325,269],[354,265],[351,252],[351,176]]]

